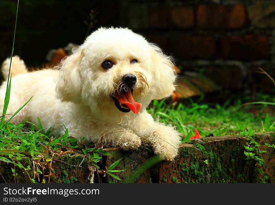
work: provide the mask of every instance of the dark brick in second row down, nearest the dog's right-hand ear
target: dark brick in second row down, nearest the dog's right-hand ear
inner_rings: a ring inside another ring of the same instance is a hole
[[[169,52],[183,59],[214,59],[216,40],[210,36],[182,35],[171,37]]]

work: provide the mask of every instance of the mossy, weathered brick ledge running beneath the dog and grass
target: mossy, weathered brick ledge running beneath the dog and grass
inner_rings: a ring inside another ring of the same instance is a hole
[[[254,139],[260,144],[265,164],[261,169],[268,176],[268,182],[274,183],[275,149],[265,143],[275,144],[275,133],[255,133]],[[123,151],[120,148],[105,148],[110,153],[103,156],[100,169],[109,167],[121,159],[114,168],[123,170],[113,172],[121,180],[106,174],[94,172],[93,165],[80,154],[60,156],[52,161],[52,170],[45,166],[46,183],[261,183],[256,161],[247,160],[244,155],[247,139],[237,136],[215,136],[192,140],[190,144],[181,144],[179,154],[174,161],[156,161],[152,148],[141,146],[137,150]],[[150,161],[151,160],[151,161]],[[153,162],[153,166],[148,163]],[[29,158],[22,158],[20,163],[31,169],[16,168],[12,173],[11,163],[0,162],[1,183],[30,183],[34,178],[42,182],[42,174],[37,174]],[[148,166],[149,168],[146,168]],[[36,174],[35,174],[36,173]],[[34,177],[36,175],[36,177]],[[39,180],[38,180],[39,176]]]

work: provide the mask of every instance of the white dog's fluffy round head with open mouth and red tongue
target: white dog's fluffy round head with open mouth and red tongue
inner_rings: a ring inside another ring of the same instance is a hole
[[[126,28],[100,28],[59,65],[57,96],[104,115],[138,113],[172,94],[172,58]]]

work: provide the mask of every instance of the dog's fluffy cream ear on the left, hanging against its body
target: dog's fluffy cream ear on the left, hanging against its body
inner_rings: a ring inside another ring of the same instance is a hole
[[[60,65],[56,66],[57,69],[60,69],[56,93],[57,97],[62,101],[80,102],[80,63],[83,56],[83,50],[78,49],[61,61]]]

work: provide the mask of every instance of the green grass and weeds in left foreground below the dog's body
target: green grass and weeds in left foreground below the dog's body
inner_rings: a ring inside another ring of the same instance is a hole
[[[80,154],[87,158],[99,173],[107,173],[114,177],[113,172],[124,171],[113,169],[120,160],[114,162],[106,170],[101,170],[98,162],[102,159],[102,155],[109,153],[102,150],[100,146],[94,147],[93,144],[87,143],[84,138],[78,142],[76,138],[69,136],[68,129],[61,136],[53,136],[49,130],[46,134],[35,131],[38,128],[34,124],[28,128],[23,122],[18,125],[7,123],[0,131],[0,161],[12,163],[24,169],[28,174],[30,168],[20,163],[22,157],[29,157],[32,161],[46,167],[48,162],[58,159],[61,155]],[[14,172],[14,169],[12,168],[11,171]],[[44,175],[46,174],[42,172],[43,170],[35,171],[41,173],[42,180],[45,181]],[[47,174],[51,173],[49,168],[46,171]],[[35,182],[29,174],[28,176],[30,182]],[[115,178],[120,180],[117,176]]]

